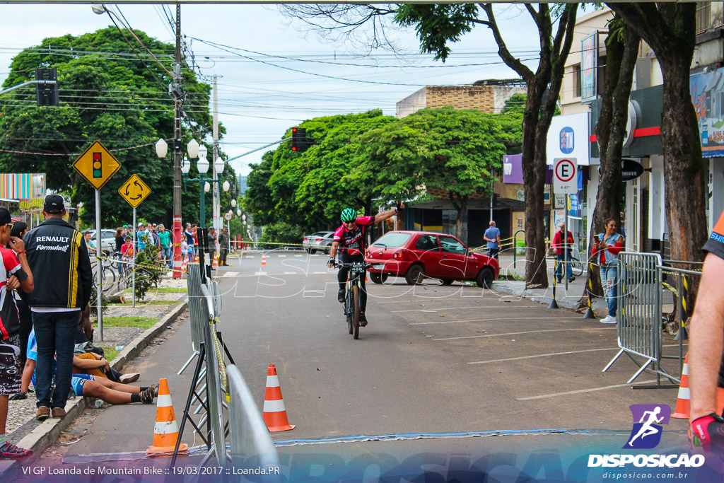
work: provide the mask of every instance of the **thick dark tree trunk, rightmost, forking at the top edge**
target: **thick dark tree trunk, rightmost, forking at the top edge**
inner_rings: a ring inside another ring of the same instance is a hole
[[[654,49],[663,76],[661,144],[666,220],[675,260],[702,261],[707,241],[706,180],[689,77],[696,45],[696,4],[610,4]],[[698,280],[689,287],[691,306]]]

